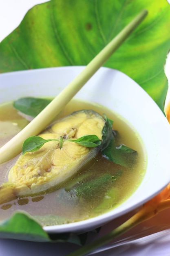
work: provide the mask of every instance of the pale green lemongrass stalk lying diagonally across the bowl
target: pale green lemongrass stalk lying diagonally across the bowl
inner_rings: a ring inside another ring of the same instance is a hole
[[[148,11],[142,10],[121,32],[102,49],[85,69],[67,85],[42,112],[33,119],[22,131],[0,148],[0,163],[6,162],[22,151],[23,141],[33,135],[38,135],[64,106],[74,97],[82,86],[97,72],[116,49],[126,40],[132,31],[146,17]]]

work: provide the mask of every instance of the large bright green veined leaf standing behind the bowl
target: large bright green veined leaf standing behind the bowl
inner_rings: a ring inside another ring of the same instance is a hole
[[[157,102],[168,89],[164,63],[170,49],[167,0],[51,0],[28,11],[0,43],[0,72],[86,65],[134,16],[149,14],[106,62],[121,70]]]

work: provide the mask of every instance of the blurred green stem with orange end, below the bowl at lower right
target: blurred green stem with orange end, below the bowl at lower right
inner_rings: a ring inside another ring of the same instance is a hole
[[[102,236],[101,238],[95,240],[92,243],[89,243],[88,245],[85,245],[81,247],[80,249],[77,249],[74,252],[71,252],[67,254],[66,256],[83,256],[94,249],[109,243],[114,238],[117,238],[121,234],[124,234],[126,231],[132,229],[136,225],[140,224],[141,222],[144,222],[150,218],[153,218],[156,214],[158,214],[160,211],[163,211],[165,209],[170,208],[170,199],[163,200],[162,202],[159,202],[158,204],[152,204],[150,200],[148,203],[144,204],[144,207],[141,208],[135,215],[133,215],[130,219],[126,220],[123,224],[121,224],[119,227],[114,229],[113,231],[109,232],[105,236]],[[151,204],[150,204],[151,202]]]

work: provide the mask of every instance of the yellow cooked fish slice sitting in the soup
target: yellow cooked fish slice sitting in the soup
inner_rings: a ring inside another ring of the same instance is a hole
[[[77,139],[83,135],[97,135],[102,139],[105,120],[93,110],[80,110],[58,120],[39,136],[44,139]],[[75,142],[49,141],[35,152],[21,155],[9,171],[9,182],[0,187],[0,203],[13,198],[33,196],[70,178],[99,152],[100,146],[87,148]]]

